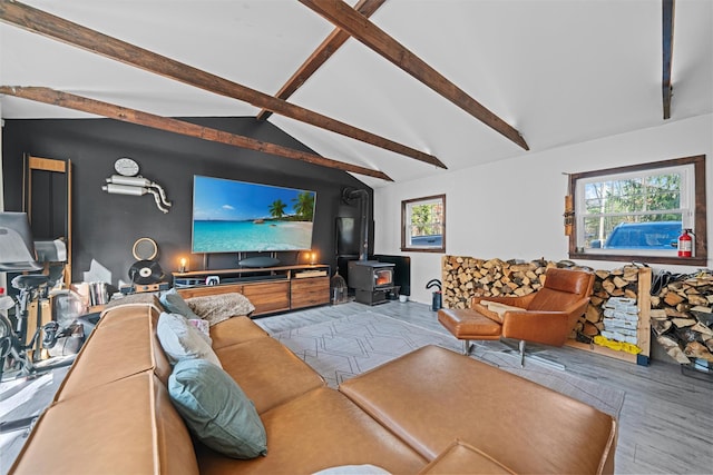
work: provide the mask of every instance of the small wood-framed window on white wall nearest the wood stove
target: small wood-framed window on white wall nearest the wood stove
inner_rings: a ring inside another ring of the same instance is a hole
[[[446,253],[446,195],[401,201],[401,250]]]

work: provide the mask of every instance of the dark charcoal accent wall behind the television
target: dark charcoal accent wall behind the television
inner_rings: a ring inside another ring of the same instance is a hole
[[[253,118],[184,120],[312,152],[272,123]],[[25,154],[71,159],[74,281],[84,279],[92,259],[111,271],[111,284],[128,281],[128,269],[136,260],[131,246],[140,237],[156,240],[158,263],[166,274],[175,271],[184,256],[189,257],[189,269],[203,269],[204,255],[191,255],[194,175],[316,191],[313,248],[321,263],[333,267],[335,218],[360,217],[358,204],[342,201],[342,189],[367,189],[373,196],[371,188],[340,170],[111,119],[6,119],[2,146],[4,205],[10,211],[22,209]],[[140,175],[165,189],[173,202],[168,214],[156,207],[153,195],[134,197],[101,190],[120,157],[136,160]],[[208,257],[209,268],[237,267],[235,254]],[[277,257],[294,264],[302,256],[279,253]]]

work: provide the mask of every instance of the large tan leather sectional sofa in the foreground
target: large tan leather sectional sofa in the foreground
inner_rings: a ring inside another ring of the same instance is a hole
[[[160,311],[158,300],[105,311],[11,473],[614,471],[616,420],[590,406],[434,346],[332,389],[247,317],[211,337],[260,414],[267,455],[228,458],[194,442],[172,405]]]

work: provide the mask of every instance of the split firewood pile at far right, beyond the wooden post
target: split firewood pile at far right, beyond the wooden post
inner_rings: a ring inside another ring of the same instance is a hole
[[[713,276],[674,276],[661,285],[651,305],[656,340],[672,358],[686,365],[696,359],[713,363]]]

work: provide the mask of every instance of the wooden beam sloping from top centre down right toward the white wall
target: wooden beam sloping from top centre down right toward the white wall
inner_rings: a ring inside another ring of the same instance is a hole
[[[515,128],[468,96],[426,61],[409,51],[364,16],[341,0],[300,0],[303,4],[331,21],[338,28],[371,48],[426,86],[433,89],[488,127],[502,133],[515,144],[529,150],[527,142]]]

